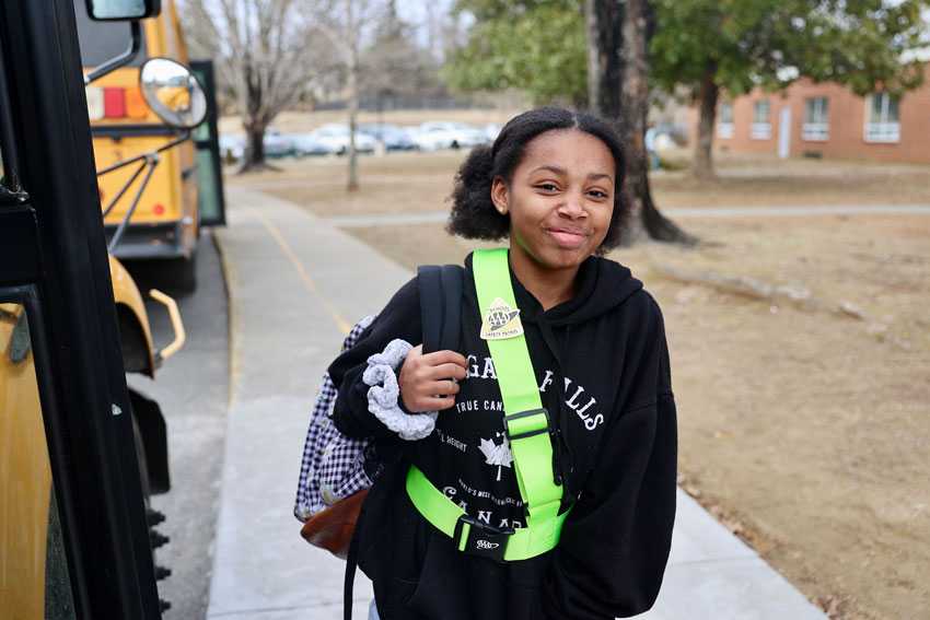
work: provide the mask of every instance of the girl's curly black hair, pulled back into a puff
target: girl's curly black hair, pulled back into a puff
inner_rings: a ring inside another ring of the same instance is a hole
[[[630,202],[623,191],[626,176],[626,152],[619,133],[598,116],[557,107],[540,107],[512,118],[501,130],[493,145],[472,149],[455,175],[452,191],[452,212],[445,230],[470,239],[501,241],[510,235],[510,217],[501,215],[491,202],[491,185],[501,177],[510,183],[513,169],[523,157],[526,144],[546,131],[574,129],[601,140],[614,156],[616,190],[614,214],[607,235],[597,254],[616,247],[626,226]]]

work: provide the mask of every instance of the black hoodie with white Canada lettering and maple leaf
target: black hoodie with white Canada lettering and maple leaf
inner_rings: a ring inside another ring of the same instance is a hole
[[[504,445],[500,389],[470,256],[465,261],[462,349],[468,376],[428,437],[397,440],[405,460],[470,516],[520,526],[524,508]],[[359,526],[359,565],[383,620],[605,619],[636,616],[659,594],[675,515],[676,422],[669,353],[655,301],[627,268],[585,260],[578,293],[549,311],[511,271],[543,406],[560,428],[562,510],[577,502],[553,551],[497,563],[465,554],[420,516],[402,465],[380,479]],[[368,411],[367,359],[395,338],[421,341],[416,279],[356,347],[329,367],[334,418],[349,436],[391,435]]]

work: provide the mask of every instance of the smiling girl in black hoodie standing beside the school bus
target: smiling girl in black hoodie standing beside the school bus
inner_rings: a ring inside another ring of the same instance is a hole
[[[562,489],[558,511],[569,513],[555,548],[516,561],[461,551],[406,487],[412,464],[473,527],[526,525],[500,388],[479,336],[472,256],[461,350],[423,354],[415,279],[330,366],[339,430],[392,437],[404,455],[372,488],[356,531],[381,618],[608,619],[655,600],[675,513],[675,405],[658,305],[628,269],[600,257],[619,243],[628,215],[624,173],[623,144],[606,121],[542,108],[512,119],[493,147],[475,148],[452,196],[449,232],[510,239],[519,317],[557,428],[551,477]],[[369,390],[380,386],[363,374],[379,364],[397,373],[396,405],[370,406]]]

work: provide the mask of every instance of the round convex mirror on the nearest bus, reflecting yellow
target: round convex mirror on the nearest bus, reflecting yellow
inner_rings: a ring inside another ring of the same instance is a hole
[[[172,127],[193,129],[207,118],[207,95],[194,73],[170,58],[151,58],[139,71],[146,103]]]

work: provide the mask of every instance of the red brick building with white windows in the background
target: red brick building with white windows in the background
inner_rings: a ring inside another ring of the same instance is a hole
[[[923,70],[923,84],[899,98],[881,92],[860,97],[846,86],[806,79],[783,93],[756,87],[718,105],[714,144],[782,157],[930,164],[930,61]],[[691,118],[696,136],[696,110]]]

